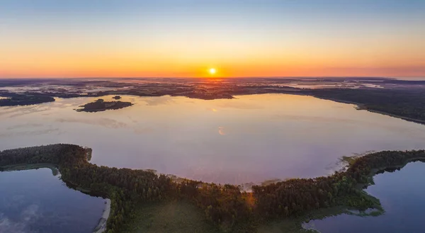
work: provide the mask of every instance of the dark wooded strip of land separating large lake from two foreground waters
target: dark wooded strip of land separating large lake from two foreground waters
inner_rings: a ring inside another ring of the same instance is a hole
[[[135,206],[164,200],[186,200],[205,213],[222,232],[256,232],[268,220],[305,216],[308,212],[344,206],[357,210],[380,208],[379,200],[362,189],[377,172],[399,169],[409,161],[424,161],[424,150],[384,151],[354,159],[346,171],[318,178],[294,178],[253,186],[251,193],[239,186],[184,180],[152,171],[117,169],[89,163],[91,149],[73,144],[8,149],[0,152],[0,171],[24,164],[53,164],[67,185],[111,199],[107,232],[123,232],[132,222]]]

